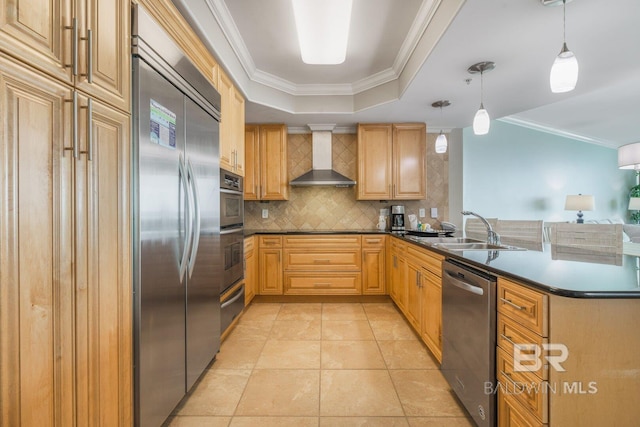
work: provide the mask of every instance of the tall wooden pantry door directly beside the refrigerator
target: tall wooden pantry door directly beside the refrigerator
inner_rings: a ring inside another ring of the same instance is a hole
[[[76,161],[76,386],[82,425],[129,425],[129,116],[80,98]],[[87,127],[90,126],[90,127]]]

